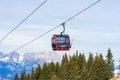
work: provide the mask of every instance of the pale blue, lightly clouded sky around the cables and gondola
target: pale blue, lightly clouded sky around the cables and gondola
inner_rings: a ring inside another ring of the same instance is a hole
[[[24,43],[61,24],[96,0],[48,0],[19,28],[0,42],[0,51],[9,53]],[[0,2],[0,38],[4,37],[43,0],[2,0]],[[120,0],[102,0],[97,5],[66,23],[66,34],[73,39],[68,53],[76,50],[88,55],[111,48],[114,59],[120,59]],[[62,26],[17,52],[50,52],[51,37]]]

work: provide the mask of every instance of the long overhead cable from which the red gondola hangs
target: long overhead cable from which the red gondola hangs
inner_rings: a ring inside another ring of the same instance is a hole
[[[100,2],[100,1],[101,1],[101,0],[98,0],[98,1],[94,2],[93,4],[89,5],[89,6],[88,6],[88,7],[86,7],[85,9],[83,9],[82,11],[78,12],[78,13],[77,13],[77,14],[75,14],[74,16],[72,16],[72,17],[70,17],[69,19],[67,19],[66,21],[64,21],[63,23],[66,23],[66,22],[68,22],[68,21],[72,20],[73,18],[75,18],[75,17],[76,17],[76,16],[78,16],[79,14],[83,13],[84,11],[88,10],[89,8],[91,8],[92,6],[94,6],[95,4],[97,4],[97,3],[98,3],[98,2]],[[63,23],[61,23],[61,24],[59,24],[58,26],[56,26],[56,27],[54,27],[54,28],[50,29],[49,31],[47,31],[47,32],[45,32],[45,33],[43,33],[43,34],[41,34],[40,36],[38,36],[38,37],[34,38],[33,40],[31,40],[31,41],[29,41],[29,42],[27,42],[27,43],[23,44],[22,46],[18,47],[18,48],[17,48],[17,49],[15,49],[14,51],[17,51],[17,50],[19,50],[19,49],[23,48],[24,46],[26,46],[26,45],[28,45],[28,44],[32,43],[33,41],[35,41],[35,40],[37,40],[37,39],[41,38],[42,36],[46,35],[47,33],[49,33],[49,32],[51,32],[51,31],[53,31],[53,30],[57,29],[57,28],[58,28],[58,27],[60,27]]]

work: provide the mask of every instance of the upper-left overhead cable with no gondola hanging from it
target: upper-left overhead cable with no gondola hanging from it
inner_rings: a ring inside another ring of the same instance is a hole
[[[3,41],[6,37],[8,37],[13,31],[15,31],[23,22],[25,22],[33,13],[35,13],[43,4],[45,4],[47,0],[42,2],[37,8],[35,8],[27,17],[25,17],[18,25],[16,25],[9,33],[7,33],[1,40]]]

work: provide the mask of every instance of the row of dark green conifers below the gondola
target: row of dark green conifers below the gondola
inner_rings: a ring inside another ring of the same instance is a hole
[[[15,74],[14,80],[109,80],[113,77],[112,58],[110,49],[105,59],[102,54],[93,56],[89,53],[88,59],[78,52],[72,56],[65,54],[61,62],[51,61],[42,67],[38,65],[29,74],[24,70],[20,76]]]

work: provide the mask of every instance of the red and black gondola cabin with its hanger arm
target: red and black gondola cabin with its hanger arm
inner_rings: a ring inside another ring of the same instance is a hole
[[[67,51],[70,50],[71,44],[70,44],[70,37],[67,34],[62,34],[65,32],[65,27],[63,25],[63,32],[59,34],[54,34],[51,40],[52,49],[54,51]]]

